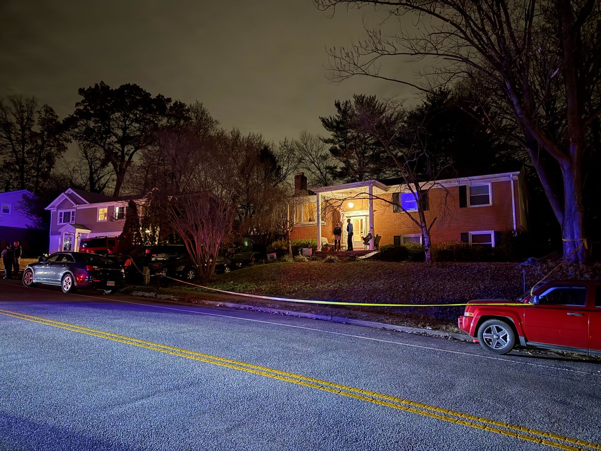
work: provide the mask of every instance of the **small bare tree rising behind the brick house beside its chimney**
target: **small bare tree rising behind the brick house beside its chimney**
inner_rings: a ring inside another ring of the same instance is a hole
[[[334,168],[337,161],[321,137],[303,130],[299,138],[292,141],[292,146],[299,158],[299,169],[307,174],[309,186],[334,184]]]

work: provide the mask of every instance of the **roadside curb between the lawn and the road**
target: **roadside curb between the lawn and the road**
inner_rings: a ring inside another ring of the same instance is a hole
[[[171,295],[159,295],[154,292],[143,292],[143,291],[135,291],[131,293],[132,296],[141,296],[144,298],[153,298],[153,299],[162,299],[169,301],[178,301],[184,302],[176,296]],[[248,305],[248,304],[238,304],[237,302],[223,302],[223,301],[207,301],[205,299],[195,299],[191,301],[192,304],[203,304],[203,305],[214,305],[215,307],[227,307],[227,308],[237,308],[239,310],[253,310],[253,311],[261,311],[263,313],[272,313],[272,314],[282,314],[286,316],[296,316],[298,318],[308,318],[308,319],[319,319],[320,321],[329,321],[336,322],[340,324],[350,324],[354,326],[361,327],[370,327],[373,329],[385,329],[385,330],[395,330],[409,334],[419,334],[419,335],[427,335],[432,337],[441,337],[445,339],[455,339],[460,340],[462,342],[472,342],[474,339],[470,337],[468,334],[457,333],[457,332],[445,332],[433,329],[424,329],[419,327],[408,327],[408,326],[398,326],[395,324],[387,324],[383,322],[376,321],[364,321],[361,319],[353,319],[353,318],[344,318],[343,316],[331,316],[325,314],[314,314],[314,313],[304,313],[302,311],[293,311],[293,310],[284,310],[281,308],[267,308],[260,307],[258,305]]]

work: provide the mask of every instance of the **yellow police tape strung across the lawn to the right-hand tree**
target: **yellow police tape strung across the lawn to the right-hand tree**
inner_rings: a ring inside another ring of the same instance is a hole
[[[551,269],[551,271],[549,271],[545,275],[545,277],[543,277],[537,283],[532,285],[532,287],[530,289],[530,295],[532,295],[532,291],[534,290],[535,286],[537,286],[539,283],[541,283],[543,280],[545,280],[547,277],[549,277],[549,275],[551,275],[551,273],[554,272],[555,269],[559,268],[564,262],[566,262],[567,259],[569,259],[572,256],[572,254],[574,254],[576,251],[579,250],[579,248],[582,247],[582,245],[584,245],[584,247],[587,248],[587,242],[586,242],[586,239],[584,239],[584,238],[578,238],[578,239],[563,238],[562,240],[563,241],[581,241],[581,244],[575,250],[573,250],[572,253],[570,253],[565,259],[563,259],[557,266],[555,266],[555,268]],[[134,262],[134,260],[131,256],[126,256],[126,257],[129,257],[132,260],[132,265],[135,266],[135,268],[138,270],[138,272],[140,274],[144,274],[144,272],[142,272],[140,270],[140,268],[138,268],[138,265],[136,265],[136,263]],[[372,303],[372,302],[314,301],[311,299],[280,298],[278,296],[254,295],[254,294],[250,294],[250,293],[239,293],[239,292],[228,291],[228,290],[220,290],[218,288],[207,287],[207,286],[191,283],[191,282],[188,282],[185,280],[179,280],[174,277],[169,277],[168,275],[165,275],[165,274],[152,274],[151,277],[165,277],[165,278],[177,281],[179,283],[185,283],[187,285],[202,288],[205,290],[215,291],[218,293],[225,293],[227,295],[232,295],[232,296],[243,296],[246,298],[254,298],[254,299],[266,299],[267,301],[297,302],[297,303],[301,303],[301,304],[354,305],[356,307],[463,307],[465,305],[468,305],[467,302],[457,302],[457,303],[453,303],[453,304],[389,304],[389,303]],[[516,307],[518,305],[527,306],[527,305],[532,305],[532,304],[524,304],[523,302],[503,302],[503,303],[471,302],[471,304],[469,304],[469,305],[499,305],[499,306],[514,306],[514,307]]]

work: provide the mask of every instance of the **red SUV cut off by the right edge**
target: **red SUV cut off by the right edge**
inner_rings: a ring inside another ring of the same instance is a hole
[[[514,301],[469,301],[458,322],[495,354],[517,344],[601,355],[601,281],[551,281]]]

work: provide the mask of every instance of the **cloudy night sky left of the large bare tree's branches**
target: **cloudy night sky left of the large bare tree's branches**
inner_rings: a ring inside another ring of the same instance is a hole
[[[415,103],[405,85],[328,81],[326,47],[364,35],[373,10],[331,19],[311,0],[0,0],[0,96],[25,94],[60,118],[78,88],[136,83],[151,94],[199,100],[226,128],[268,141],[325,134],[319,116],[353,94]],[[395,66],[395,67],[394,67]],[[396,60],[396,76],[418,67]]]

